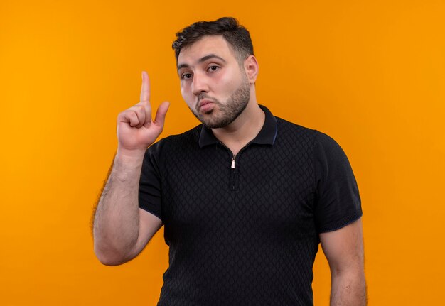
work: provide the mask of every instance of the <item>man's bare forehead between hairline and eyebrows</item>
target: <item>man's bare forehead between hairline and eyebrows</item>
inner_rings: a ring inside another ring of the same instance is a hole
[[[193,64],[209,54],[218,55],[225,60],[235,58],[232,48],[230,48],[222,35],[208,35],[181,49],[178,55],[178,66],[181,64]]]

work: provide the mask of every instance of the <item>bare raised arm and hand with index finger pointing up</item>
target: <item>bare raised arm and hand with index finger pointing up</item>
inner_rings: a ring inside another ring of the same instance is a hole
[[[169,105],[163,102],[151,121],[149,99],[149,76],[142,72],[141,101],[117,116],[117,153],[94,216],[95,254],[105,265],[137,256],[162,226],[138,202],[144,153],[161,134]]]

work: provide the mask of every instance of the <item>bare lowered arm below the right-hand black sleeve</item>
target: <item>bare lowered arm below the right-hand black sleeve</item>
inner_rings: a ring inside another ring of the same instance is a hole
[[[331,306],[365,306],[363,228],[361,218],[336,231],[320,234],[331,269]]]

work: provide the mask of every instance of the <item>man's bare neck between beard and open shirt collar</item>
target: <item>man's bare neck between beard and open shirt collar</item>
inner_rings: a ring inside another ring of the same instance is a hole
[[[254,99],[250,99],[245,110],[235,121],[223,128],[212,129],[212,131],[216,138],[236,155],[242,147],[258,135],[264,125],[264,118],[264,111],[259,108]]]

